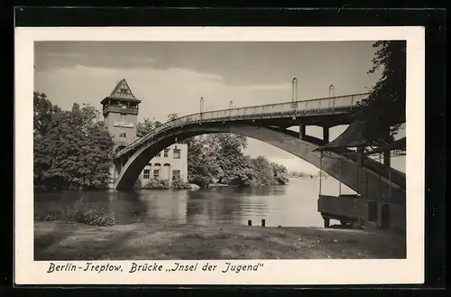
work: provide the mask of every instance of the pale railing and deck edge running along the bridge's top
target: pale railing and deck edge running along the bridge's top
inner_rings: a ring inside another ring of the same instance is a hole
[[[362,101],[365,97],[368,97],[369,93],[304,99],[299,101],[289,101],[283,103],[268,104],[254,107],[237,107],[220,109],[215,111],[207,111],[198,114],[192,114],[188,116],[181,116],[172,121],[166,122],[158,127],[152,129],[147,135],[136,139],[131,144],[128,144],[123,150],[115,153],[115,156],[120,156],[123,153],[127,153],[133,150],[140,144],[145,143],[151,139],[154,135],[158,135],[170,128],[177,126],[201,124],[209,122],[231,121],[239,119],[260,119],[263,117],[280,117],[281,114],[287,114],[287,116],[295,116],[305,114],[307,111],[321,111],[321,110],[334,110],[336,108],[355,107],[357,102]]]

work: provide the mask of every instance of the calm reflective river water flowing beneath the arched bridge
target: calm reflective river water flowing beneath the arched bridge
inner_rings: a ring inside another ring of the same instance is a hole
[[[114,212],[115,224],[245,225],[252,219],[253,225],[261,225],[264,218],[268,227],[321,227],[318,185],[318,178],[308,177],[253,189],[38,192],[34,211],[65,207],[83,198],[87,205]],[[339,183],[331,177],[322,179],[321,189],[336,195]],[[342,185],[342,193],[352,191]]]

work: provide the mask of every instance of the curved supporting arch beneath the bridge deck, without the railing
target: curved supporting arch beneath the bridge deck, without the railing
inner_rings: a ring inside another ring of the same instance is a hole
[[[195,135],[213,133],[233,133],[257,139],[272,144],[285,152],[292,153],[318,168],[320,166],[320,153],[314,152],[318,148],[318,144],[311,144],[299,139],[299,137],[293,137],[286,131],[244,124],[187,125],[158,135],[155,139],[148,141],[147,144],[134,151],[127,160],[124,160],[120,173],[115,180],[114,188],[116,190],[130,189],[140,172],[143,171],[145,164],[156,153],[173,144],[176,137],[180,141]],[[343,182],[363,197],[375,199],[375,196],[377,196],[378,200],[390,200],[391,202],[397,200],[398,203],[404,203],[405,189],[388,181],[371,169],[365,170],[365,168],[357,167],[354,160],[342,158],[340,164],[337,156],[334,154],[323,156],[322,169],[324,172]]]

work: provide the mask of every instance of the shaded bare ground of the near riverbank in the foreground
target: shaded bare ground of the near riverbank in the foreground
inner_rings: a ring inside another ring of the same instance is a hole
[[[405,246],[377,230],[34,222],[37,261],[404,258]]]

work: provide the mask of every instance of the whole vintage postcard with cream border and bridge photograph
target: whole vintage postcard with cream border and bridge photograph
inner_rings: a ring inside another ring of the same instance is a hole
[[[17,27],[15,283],[422,283],[424,47]]]

